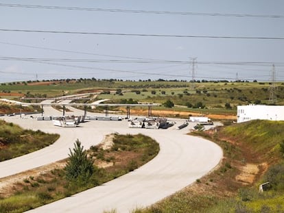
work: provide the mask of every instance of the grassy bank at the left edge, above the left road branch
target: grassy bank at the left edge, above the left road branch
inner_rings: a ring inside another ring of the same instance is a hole
[[[58,138],[58,134],[22,129],[0,120],[0,162],[47,147]]]

